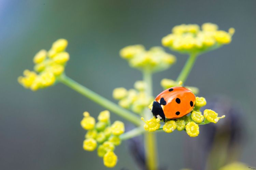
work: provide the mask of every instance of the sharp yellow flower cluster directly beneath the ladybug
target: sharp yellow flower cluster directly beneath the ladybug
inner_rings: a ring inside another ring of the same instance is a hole
[[[217,123],[219,119],[225,117],[225,115],[223,115],[222,117],[218,117],[218,113],[210,109],[205,109],[202,114],[200,109],[205,105],[205,98],[196,97],[196,104],[194,109],[189,114],[181,118],[166,120],[165,124],[162,126],[163,131],[165,131],[166,133],[172,133],[175,129],[179,131],[186,130],[187,134],[190,137],[196,137],[199,135],[199,124],[207,124],[210,122]],[[144,121],[144,118],[141,119]],[[158,130],[161,126],[160,119],[154,117],[144,122],[144,129],[148,132]]]

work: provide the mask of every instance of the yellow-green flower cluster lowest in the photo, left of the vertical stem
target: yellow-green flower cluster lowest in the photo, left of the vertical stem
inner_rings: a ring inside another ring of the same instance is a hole
[[[88,130],[85,135],[83,148],[86,151],[94,151],[97,148],[98,156],[103,157],[106,167],[112,168],[117,163],[117,156],[114,153],[115,146],[121,143],[119,136],[125,132],[124,123],[115,121],[110,123],[110,112],[104,110],[98,116],[98,122],[84,112],[81,126]]]

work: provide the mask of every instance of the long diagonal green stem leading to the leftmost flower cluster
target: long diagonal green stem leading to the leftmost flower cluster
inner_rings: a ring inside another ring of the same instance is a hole
[[[132,112],[123,109],[119,107],[117,104],[109,101],[108,99],[100,96],[99,94],[89,90],[88,88],[82,86],[81,84],[77,83],[76,81],[72,80],[71,78],[67,77],[66,75],[61,75],[59,77],[59,81],[65,84],[66,86],[70,87],[71,89],[81,93],[85,97],[88,97],[95,103],[101,105],[102,107],[105,107],[108,110],[111,110],[112,112],[116,113],[120,117],[123,117],[124,119],[140,126],[141,120],[139,117]]]

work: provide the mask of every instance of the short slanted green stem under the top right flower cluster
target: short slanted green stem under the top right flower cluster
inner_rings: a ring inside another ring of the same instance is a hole
[[[186,79],[187,79],[187,77],[188,77],[188,75],[189,75],[189,73],[190,73],[192,67],[193,67],[194,64],[195,64],[195,61],[196,61],[196,59],[197,59],[197,56],[198,56],[197,53],[192,53],[192,54],[189,56],[189,58],[188,58],[186,64],[185,64],[184,67],[182,68],[182,71],[181,71],[180,75],[178,76],[178,78],[177,78],[177,80],[176,80],[177,82],[182,81],[182,82],[184,83],[184,82],[186,81]]]

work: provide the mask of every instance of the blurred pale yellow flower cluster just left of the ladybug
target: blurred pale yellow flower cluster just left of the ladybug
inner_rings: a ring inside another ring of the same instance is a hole
[[[126,90],[125,88],[116,88],[113,91],[113,98],[119,100],[118,104],[126,109],[130,109],[135,113],[141,114],[147,107],[153,97],[147,98],[145,93],[146,83],[136,81],[134,89]]]

